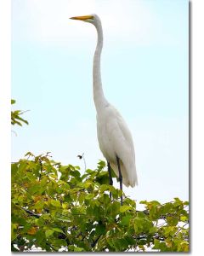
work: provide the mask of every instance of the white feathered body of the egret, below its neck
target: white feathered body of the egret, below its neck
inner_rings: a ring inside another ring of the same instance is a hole
[[[135,168],[133,138],[121,114],[108,104],[97,114],[99,148],[118,177],[116,156],[120,159],[122,183],[133,187],[138,184]]]

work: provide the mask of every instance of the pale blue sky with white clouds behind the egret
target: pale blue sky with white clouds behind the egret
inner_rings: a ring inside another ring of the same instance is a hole
[[[13,127],[12,160],[50,151],[82,172],[78,154],[91,169],[104,160],[92,95],[96,32],[69,20],[96,13],[105,96],[135,146],[139,186],[124,191],[137,201],[188,200],[188,8],[184,0],[13,0],[12,97],[29,110],[29,125]]]

